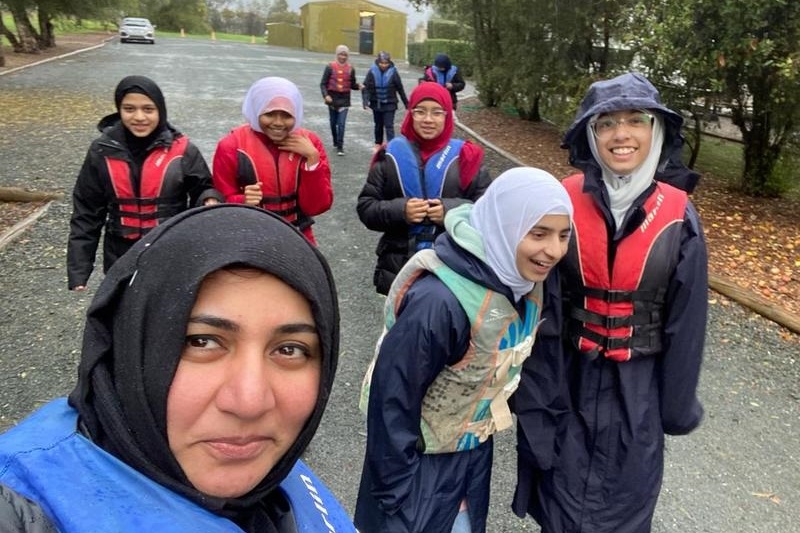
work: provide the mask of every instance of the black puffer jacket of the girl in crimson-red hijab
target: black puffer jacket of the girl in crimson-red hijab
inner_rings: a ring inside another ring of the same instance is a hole
[[[420,168],[424,168],[420,165]],[[445,213],[465,202],[474,202],[480,198],[491,183],[488,171],[481,166],[478,173],[466,188],[461,187],[460,167],[454,164],[445,177],[442,188],[442,204]],[[386,159],[381,150],[376,162],[369,170],[367,182],[358,195],[358,218],[369,229],[383,233],[375,253],[378,262],[375,265],[373,283],[375,290],[387,294],[395,276],[414,254],[409,249],[409,224],[405,220],[406,198],[400,186],[397,168]],[[444,227],[437,228],[441,234]]]

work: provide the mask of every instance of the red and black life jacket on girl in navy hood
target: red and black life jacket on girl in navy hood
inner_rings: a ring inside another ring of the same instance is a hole
[[[618,242],[609,242],[603,213],[594,198],[582,192],[583,181],[581,174],[562,181],[575,208],[574,240],[564,262],[569,335],[591,357],[602,353],[614,361],[628,361],[659,353],[667,287],[680,254],[686,193],[656,182],[642,206],[644,221]]]

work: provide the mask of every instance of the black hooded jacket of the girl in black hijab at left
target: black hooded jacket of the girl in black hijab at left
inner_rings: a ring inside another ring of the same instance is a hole
[[[134,242],[112,235],[112,227],[118,227],[118,216],[112,209],[117,196],[111,183],[106,158],[127,161],[131,178],[138,183],[141,168],[134,163],[125,144],[124,126],[110,115],[100,121],[98,129],[102,134],[89,147],[83,161],[75,188],[72,192],[73,211],[70,219],[69,240],[67,244],[67,276],[69,288],[86,285],[94,268],[95,253],[100,243],[100,233],[105,227],[103,239],[103,271],[125,253]],[[110,120],[109,120],[110,119]],[[148,153],[156,148],[170,146],[173,139],[182,134],[168,126],[154,140]],[[176,199],[184,209],[202,205],[208,198],[223,202],[224,198],[211,183],[211,172],[202,154],[191,142],[186,146],[181,159],[181,175],[167,176],[166,179],[181,181],[182,196]],[[112,219],[116,217],[115,219]]]

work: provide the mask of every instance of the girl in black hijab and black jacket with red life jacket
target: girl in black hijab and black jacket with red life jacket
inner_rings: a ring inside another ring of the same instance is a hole
[[[67,244],[70,290],[86,289],[103,236],[103,272],[148,231],[190,207],[218,203],[197,147],[167,121],[161,89],[127,76],[114,90],[116,113],[86,153],[72,193]]]

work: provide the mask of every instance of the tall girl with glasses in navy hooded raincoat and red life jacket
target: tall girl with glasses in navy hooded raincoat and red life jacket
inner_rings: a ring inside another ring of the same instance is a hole
[[[628,73],[592,84],[564,138],[581,173],[563,181],[575,206],[563,312],[545,322],[531,360],[564,358],[569,394],[542,397],[526,367],[514,396],[514,510],[543,533],[649,532],[664,435],[700,424],[707,257],[682,123]]]

